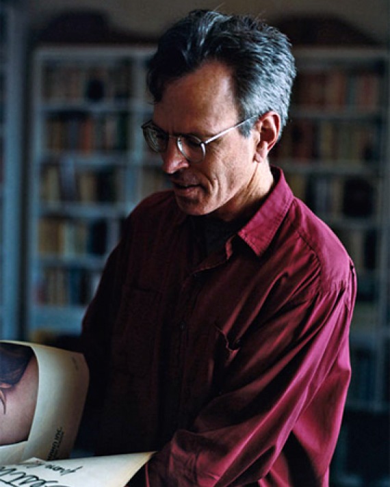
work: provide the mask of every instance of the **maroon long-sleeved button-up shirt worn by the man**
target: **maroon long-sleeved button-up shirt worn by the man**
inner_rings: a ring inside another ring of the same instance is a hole
[[[157,450],[152,487],[328,485],[356,278],[273,172],[259,211],[206,257],[172,192],[144,200],[88,308],[96,453]]]

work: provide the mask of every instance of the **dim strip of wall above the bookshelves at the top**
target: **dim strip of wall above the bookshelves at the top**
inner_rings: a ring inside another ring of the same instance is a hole
[[[65,11],[99,10],[113,27],[158,35],[166,25],[194,8],[256,14],[272,22],[288,14],[335,15],[379,42],[389,42],[389,0],[29,0],[31,26],[40,29]],[[219,6],[218,6],[219,5]]]

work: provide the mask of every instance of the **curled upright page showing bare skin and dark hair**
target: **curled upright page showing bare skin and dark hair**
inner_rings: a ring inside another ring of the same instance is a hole
[[[68,458],[88,380],[82,354],[0,341],[0,463]]]

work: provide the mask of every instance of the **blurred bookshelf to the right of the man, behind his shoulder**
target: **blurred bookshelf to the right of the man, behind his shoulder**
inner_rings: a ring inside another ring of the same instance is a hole
[[[331,485],[377,486],[380,475],[389,481],[382,450],[372,449],[389,414],[389,52],[302,47],[295,55],[290,121],[274,161],[339,236],[358,276],[352,381]]]

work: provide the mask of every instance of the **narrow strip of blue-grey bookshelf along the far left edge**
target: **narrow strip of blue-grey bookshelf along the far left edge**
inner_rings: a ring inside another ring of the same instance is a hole
[[[21,329],[18,295],[21,252],[23,36],[21,1],[0,1],[0,334]]]

